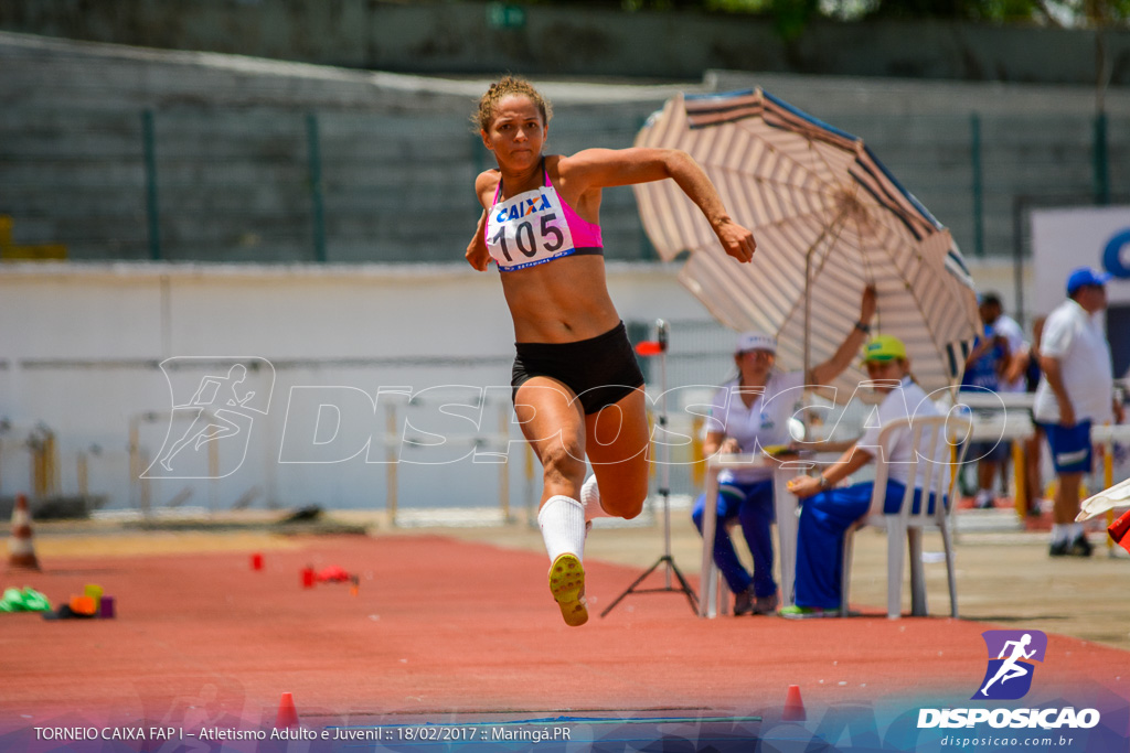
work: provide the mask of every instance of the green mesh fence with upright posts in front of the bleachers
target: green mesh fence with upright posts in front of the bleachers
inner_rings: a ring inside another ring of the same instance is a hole
[[[955,107],[955,111],[959,108]],[[855,133],[970,256],[1027,253],[1027,207],[1130,195],[1130,119],[861,116]],[[564,110],[549,148],[629,146],[637,117]],[[358,263],[462,259],[489,155],[461,117],[203,105],[0,113],[0,214],[73,260]],[[654,253],[628,189],[607,192],[607,255]]]

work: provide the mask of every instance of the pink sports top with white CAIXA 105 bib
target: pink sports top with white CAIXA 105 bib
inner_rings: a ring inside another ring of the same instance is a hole
[[[513,272],[573,254],[605,253],[600,226],[581,219],[558,195],[549,182],[545,158],[541,172],[546,176],[545,185],[506,201],[498,201],[502,181],[495,189],[484,239],[499,272]]]

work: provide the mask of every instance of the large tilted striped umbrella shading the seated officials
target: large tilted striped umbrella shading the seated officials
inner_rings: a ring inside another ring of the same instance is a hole
[[[922,387],[960,380],[981,327],[968,270],[949,230],[862,140],[754,89],[676,96],[635,143],[689,152],[733,219],[754,231],[757,253],[738,264],[673,181],[635,186],[660,256],[690,252],[683,284],[722,324],[775,333],[782,368],[807,371],[829,358],[855,323],[863,288],[875,284],[873,331],[906,343]],[[837,397],[867,378],[861,368],[853,364],[831,385]]]

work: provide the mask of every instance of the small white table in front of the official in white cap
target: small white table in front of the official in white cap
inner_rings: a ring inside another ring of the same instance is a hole
[[[699,577],[701,598],[698,616],[714,618],[729,612],[727,593],[721,573],[714,563],[714,531],[718,528],[718,475],[723,470],[773,470],[773,507],[777,527],[777,561],[781,562],[781,599],[792,604],[792,584],[797,575],[797,497],[785,488],[786,482],[812,467],[811,459],[800,456],[771,458],[764,453],[754,455],[715,455],[706,462],[706,498],[703,505],[703,564]]]

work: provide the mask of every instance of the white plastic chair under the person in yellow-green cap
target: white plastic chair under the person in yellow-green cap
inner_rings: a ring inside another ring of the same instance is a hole
[[[946,575],[949,578],[949,614],[957,616],[957,583],[954,579],[954,537],[951,531],[950,514],[956,506],[954,499],[954,488],[957,482],[957,474],[962,459],[965,457],[965,449],[968,441],[962,443],[957,453],[956,463],[950,464],[949,457],[946,463],[932,463],[929,458],[937,457],[939,437],[942,430],[948,432],[949,441],[960,440],[968,437],[970,422],[967,419],[946,415],[918,417],[913,421],[903,419],[894,421],[883,428],[879,432],[879,445],[886,446],[889,435],[899,428],[910,427],[911,439],[914,447],[920,452],[914,454],[914,459],[905,463],[907,469],[906,493],[903,496],[902,506],[897,514],[885,515],[883,513],[887,478],[889,475],[888,464],[883,457],[876,457],[875,464],[875,493],[871,497],[871,511],[860,518],[855,525],[850,527],[844,534],[844,549],[841,577],[841,602],[840,614],[847,616],[847,596],[851,584],[851,561],[852,543],[855,529],[864,526],[877,526],[887,531],[887,616],[897,620],[902,616],[902,590],[903,590],[903,540],[907,542],[910,551],[911,569],[911,615],[924,616],[925,605],[925,573],[922,569],[922,532],[936,529],[941,533],[941,542],[946,554]],[[923,441],[924,437],[924,441]],[[919,511],[913,513],[914,507],[914,481],[918,478],[919,464],[925,463],[925,474],[922,483],[922,496]],[[946,491],[949,505],[941,504],[940,499],[935,499],[933,511],[929,511],[929,493],[927,490],[933,487],[933,480],[938,473],[949,473],[948,482],[939,484]]]

